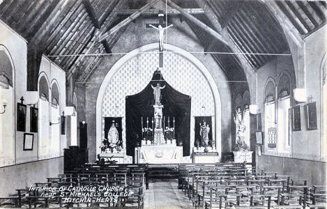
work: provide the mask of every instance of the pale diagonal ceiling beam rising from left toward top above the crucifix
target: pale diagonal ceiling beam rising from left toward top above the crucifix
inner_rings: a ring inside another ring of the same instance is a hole
[[[116,31],[119,31],[122,29],[124,26],[135,20],[139,15],[141,15],[145,10],[151,8],[153,4],[157,3],[159,0],[152,0],[149,3],[146,3],[146,5],[142,6],[142,8],[139,8],[135,13],[127,17],[125,20],[120,22],[119,24],[116,24],[112,29],[109,31],[105,32],[102,31],[100,37],[98,38],[99,41],[105,40],[108,36],[110,36],[112,33],[116,33]]]

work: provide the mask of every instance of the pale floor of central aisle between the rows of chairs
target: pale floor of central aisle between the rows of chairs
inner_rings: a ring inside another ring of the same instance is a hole
[[[144,208],[193,208],[192,202],[178,190],[177,180],[160,180],[155,183],[149,183],[149,189],[146,190],[146,200]]]

